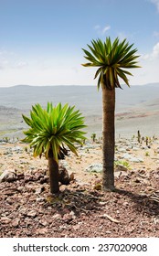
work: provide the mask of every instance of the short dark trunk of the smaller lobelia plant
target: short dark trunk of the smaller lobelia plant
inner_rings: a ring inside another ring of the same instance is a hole
[[[52,150],[49,150],[48,153],[48,170],[49,170],[49,184],[50,192],[52,194],[58,193],[59,184],[58,184],[58,163],[53,157]]]

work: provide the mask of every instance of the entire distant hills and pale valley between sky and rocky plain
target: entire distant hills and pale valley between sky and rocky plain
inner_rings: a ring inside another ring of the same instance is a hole
[[[117,133],[125,136],[141,129],[143,133],[159,134],[159,83],[122,88],[116,90]],[[101,90],[96,86],[17,85],[0,88],[0,137],[21,136],[25,127],[21,113],[28,113],[37,102],[46,106],[48,101],[75,105],[86,117],[88,131],[101,133]]]

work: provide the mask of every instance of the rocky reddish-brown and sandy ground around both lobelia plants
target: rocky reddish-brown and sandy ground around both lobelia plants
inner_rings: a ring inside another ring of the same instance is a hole
[[[69,185],[51,196],[48,162],[28,145],[0,143],[0,237],[158,237],[159,139],[118,139],[116,192],[101,191],[101,141],[60,165]]]

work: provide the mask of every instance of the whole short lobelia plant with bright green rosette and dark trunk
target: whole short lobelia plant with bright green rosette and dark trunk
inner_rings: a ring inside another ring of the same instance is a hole
[[[58,159],[60,155],[66,155],[66,148],[75,155],[77,148],[74,145],[82,144],[85,140],[85,132],[80,129],[86,127],[80,111],[74,111],[75,106],[69,104],[64,106],[58,103],[53,106],[48,102],[47,109],[43,109],[40,104],[32,106],[30,118],[24,114],[23,119],[30,128],[24,132],[26,138],[23,142],[30,144],[34,149],[34,156],[45,154],[48,159],[50,192],[58,193]]]

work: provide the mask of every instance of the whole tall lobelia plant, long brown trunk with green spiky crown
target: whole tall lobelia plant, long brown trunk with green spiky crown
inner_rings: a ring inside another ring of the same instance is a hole
[[[102,90],[102,187],[103,190],[114,190],[114,147],[115,147],[115,89],[121,88],[119,79],[128,86],[127,75],[131,75],[127,69],[140,68],[137,66],[137,49],[132,49],[126,39],[120,42],[117,37],[112,43],[107,37],[104,42],[101,39],[92,40],[88,45],[89,50],[83,48],[85,59],[89,62],[82,64],[84,67],[97,67],[94,79],[98,79],[98,89]]]

